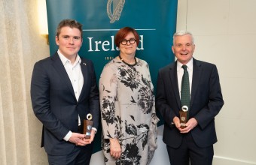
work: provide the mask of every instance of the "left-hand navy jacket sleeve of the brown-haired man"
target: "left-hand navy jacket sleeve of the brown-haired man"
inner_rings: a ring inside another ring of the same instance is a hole
[[[43,62],[35,63],[31,80],[31,100],[35,116],[57,139],[63,139],[69,129],[50,110],[50,80]]]

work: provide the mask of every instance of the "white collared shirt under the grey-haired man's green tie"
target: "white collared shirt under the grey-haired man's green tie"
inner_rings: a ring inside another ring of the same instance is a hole
[[[177,61],[178,92],[179,92],[180,98],[181,98],[181,81],[184,74],[184,69],[181,67],[182,67],[181,62]],[[193,58],[191,58],[190,62],[187,63],[187,72],[188,72],[188,78],[189,78],[189,90],[190,90],[190,97],[191,97],[192,77],[193,77]]]

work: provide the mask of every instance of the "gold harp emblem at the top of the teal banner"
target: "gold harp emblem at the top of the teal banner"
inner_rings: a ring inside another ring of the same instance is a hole
[[[114,23],[116,20],[119,20],[124,3],[125,0],[108,0],[107,12],[110,23]]]

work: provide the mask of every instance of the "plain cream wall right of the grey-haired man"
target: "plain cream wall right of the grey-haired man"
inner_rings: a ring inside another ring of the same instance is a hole
[[[256,1],[179,0],[177,30],[195,37],[194,58],[218,67],[224,107],[215,118],[214,165],[256,164]]]

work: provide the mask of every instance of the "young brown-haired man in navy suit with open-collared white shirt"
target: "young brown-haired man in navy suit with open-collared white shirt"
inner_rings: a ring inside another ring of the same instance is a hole
[[[93,62],[81,58],[82,25],[62,20],[56,29],[58,51],[35,63],[31,99],[43,124],[42,142],[49,164],[89,164],[99,125],[99,89]],[[82,133],[84,119],[93,115],[90,139]]]

